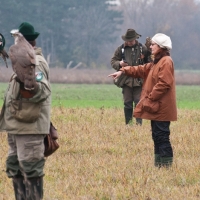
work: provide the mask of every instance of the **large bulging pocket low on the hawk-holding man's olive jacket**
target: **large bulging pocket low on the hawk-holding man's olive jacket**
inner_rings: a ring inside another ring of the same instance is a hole
[[[33,103],[28,100],[12,100],[9,110],[16,120],[20,122],[33,123],[40,116],[41,103]]]

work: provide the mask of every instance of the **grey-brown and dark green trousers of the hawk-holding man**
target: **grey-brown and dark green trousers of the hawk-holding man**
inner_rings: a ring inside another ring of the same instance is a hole
[[[34,178],[44,175],[44,136],[8,134],[6,173],[9,178],[20,175]]]

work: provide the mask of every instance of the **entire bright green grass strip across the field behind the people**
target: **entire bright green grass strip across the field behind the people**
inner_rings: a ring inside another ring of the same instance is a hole
[[[0,83],[0,105],[7,83]],[[199,86],[176,86],[179,109],[200,109]],[[169,102],[170,103],[170,102]],[[112,84],[52,84],[52,106],[122,108],[122,89]]]

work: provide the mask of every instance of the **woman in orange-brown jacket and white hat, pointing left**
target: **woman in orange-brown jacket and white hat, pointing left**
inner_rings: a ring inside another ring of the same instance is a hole
[[[122,73],[143,78],[140,101],[134,110],[134,117],[151,120],[154,141],[155,166],[171,166],[173,149],[170,143],[170,121],[177,120],[174,64],[170,57],[170,37],[158,33],[151,39],[153,61],[139,66],[122,67],[110,74],[117,79]]]

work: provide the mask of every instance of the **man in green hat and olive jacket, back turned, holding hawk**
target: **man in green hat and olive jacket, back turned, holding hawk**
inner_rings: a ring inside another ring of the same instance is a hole
[[[15,198],[39,200],[43,198],[43,141],[50,127],[49,66],[41,48],[36,47],[39,33],[34,27],[23,22],[19,32],[35,50],[35,89],[26,90],[17,75],[12,75],[1,110],[0,130],[8,133],[6,173],[13,180]]]

